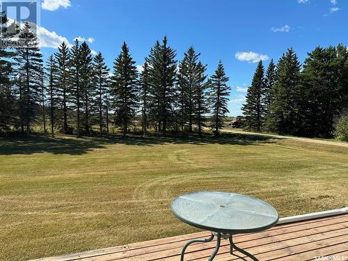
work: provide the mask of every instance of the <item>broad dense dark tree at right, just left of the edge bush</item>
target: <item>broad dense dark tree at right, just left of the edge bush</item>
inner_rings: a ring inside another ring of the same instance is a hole
[[[333,135],[333,121],[340,111],[338,57],[335,47],[316,47],[308,53],[303,63],[302,84],[306,95],[303,100],[306,125],[302,134],[306,136],[330,137]]]

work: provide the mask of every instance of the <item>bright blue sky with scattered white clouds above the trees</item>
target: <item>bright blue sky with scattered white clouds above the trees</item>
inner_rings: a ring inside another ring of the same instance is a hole
[[[111,67],[125,40],[142,65],[167,35],[179,60],[194,45],[209,75],[223,61],[236,116],[260,58],[267,66],[293,47],[302,62],[317,45],[348,45],[347,10],[347,0],[45,0],[42,52],[48,56],[61,40],[81,37]]]

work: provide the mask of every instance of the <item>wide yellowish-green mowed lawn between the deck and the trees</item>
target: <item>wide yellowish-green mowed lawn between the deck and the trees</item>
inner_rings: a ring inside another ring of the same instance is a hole
[[[0,140],[0,260],[26,260],[198,231],[175,196],[219,190],[291,216],[348,205],[348,148],[219,138]]]

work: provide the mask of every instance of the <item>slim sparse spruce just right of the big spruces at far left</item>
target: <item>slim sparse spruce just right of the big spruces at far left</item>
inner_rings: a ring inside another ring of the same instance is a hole
[[[54,137],[54,125],[55,125],[55,110],[57,102],[57,72],[58,68],[54,56],[51,55],[48,58],[46,65],[46,73],[48,78],[48,93],[49,93],[49,119],[51,125],[51,136]]]

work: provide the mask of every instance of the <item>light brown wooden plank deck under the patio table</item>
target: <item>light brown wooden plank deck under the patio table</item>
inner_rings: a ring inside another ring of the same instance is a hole
[[[40,260],[178,261],[187,240],[209,235],[209,232],[199,232]],[[330,255],[332,259],[322,260],[348,260],[348,214],[278,225],[264,232],[236,235],[234,241],[260,261],[315,260],[316,256]],[[207,260],[215,244],[215,239],[209,243],[192,244],[187,248],[185,261]],[[223,240],[214,260],[242,260],[238,256],[251,260],[237,251],[236,255],[230,255],[229,251],[228,240]]]

